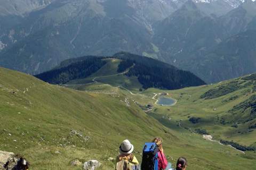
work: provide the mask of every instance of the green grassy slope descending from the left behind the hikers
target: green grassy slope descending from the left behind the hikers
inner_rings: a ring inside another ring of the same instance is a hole
[[[153,101],[151,96],[104,84],[91,84],[96,89],[91,92],[67,89],[2,68],[0,75],[0,148],[25,156],[31,169],[81,169],[70,166],[76,158],[98,159],[101,169],[113,169],[107,158],[118,154],[122,140],[131,140],[141,160],[143,143],[155,136],[163,137],[168,160],[174,164],[185,156],[188,169],[255,167],[251,157],[233,148],[176,124],[163,126],[132,101]]]

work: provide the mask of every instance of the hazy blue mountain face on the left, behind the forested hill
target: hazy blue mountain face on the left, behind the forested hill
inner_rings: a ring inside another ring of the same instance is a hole
[[[34,74],[84,54],[141,53],[149,44],[147,29],[130,16],[112,13],[113,5],[105,4],[104,11],[95,1],[56,1],[30,13],[24,24],[4,33],[2,66]],[[127,8],[127,13],[132,12]]]

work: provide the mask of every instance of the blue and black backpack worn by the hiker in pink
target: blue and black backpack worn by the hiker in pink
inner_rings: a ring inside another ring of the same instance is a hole
[[[159,151],[156,143],[145,143],[143,147],[141,170],[158,170]]]

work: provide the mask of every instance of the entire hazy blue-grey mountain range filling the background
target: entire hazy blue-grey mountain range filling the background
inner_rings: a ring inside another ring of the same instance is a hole
[[[256,71],[253,47],[247,52],[255,44],[256,3],[251,0],[0,3],[0,65],[29,74],[68,58],[120,51],[156,58],[207,83]],[[252,37],[250,44],[239,36],[245,34]],[[235,37],[244,46],[230,44]]]

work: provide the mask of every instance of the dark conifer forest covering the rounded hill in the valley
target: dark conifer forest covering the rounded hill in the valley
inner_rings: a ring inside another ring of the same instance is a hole
[[[85,56],[71,59],[62,62],[56,69],[35,76],[53,84],[66,84],[69,81],[90,77],[91,74],[97,73],[105,64],[111,63],[113,60],[115,61],[115,59],[121,60],[116,68],[116,74],[121,74],[127,70],[124,73],[125,77],[136,77],[143,89],[150,87],[179,89],[205,84],[204,81],[196,77],[193,73],[179,70],[172,65],[152,58],[130,53],[117,53],[107,58]],[[97,74],[97,77],[102,76],[103,75]],[[92,78],[92,81],[93,80]]]

